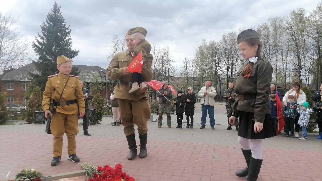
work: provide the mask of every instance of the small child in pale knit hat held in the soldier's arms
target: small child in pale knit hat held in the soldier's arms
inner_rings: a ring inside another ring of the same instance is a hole
[[[131,39],[133,40],[133,44],[135,45],[131,55],[136,57],[140,52],[142,52],[142,66],[145,65],[146,60],[153,60],[151,51],[151,45],[149,42],[145,40],[145,36],[147,35],[147,30],[142,27],[136,27],[130,29]],[[146,90],[147,86],[145,85],[145,79],[139,72],[132,73],[132,88],[128,91],[129,94],[142,95]]]

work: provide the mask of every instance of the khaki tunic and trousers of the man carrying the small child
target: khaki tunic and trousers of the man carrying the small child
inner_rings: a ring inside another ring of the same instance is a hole
[[[151,54],[147,55],[152,57]],[[124,67],[132,62],[133,57],[129,50],[117,53],[111,60],[108,69],[106,70],[109,79],[122,80],[132,82],[131,73],[124,74]],[[145,81],[152,79],[152,59],[146,59],[142,65],[141,75]],[[147,121],[150,118],[151,111],[148,103],[149,93],[145,91],[142,95],[128,94],[130,86],[119,83],[115,87],[115,98],[118,98],[119,110],[124,126],[124,134],[126,136],[134,134],[134,124],[138,126],[138,133],[143,135],[147,133]]]

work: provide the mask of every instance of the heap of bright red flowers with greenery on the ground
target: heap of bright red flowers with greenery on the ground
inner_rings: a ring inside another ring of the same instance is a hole
[[[135,181],[133,177],[128,176],[122,171],[121,164],[116,164],[115,167],[105,165],[104,167],[97,167],[84,163],[82,167],[90,178],[88,181]]]

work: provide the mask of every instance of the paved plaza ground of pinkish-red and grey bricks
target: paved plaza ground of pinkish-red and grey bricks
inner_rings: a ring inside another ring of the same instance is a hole
[[[12,170],[9,174],[12,178],[29,166],[51,175],[81,170],[79,164],[91,162],[96,166],[120,163],[123,171],[139,181],[246,180],[235,176],[236,170],[245,167],[245,161],[237,141],[237,131],[226,130],[224,106],[216,105],[216,129],[211,130],[209,125],[206,129],[199,129],[200,106],[196,105],[195,129],[175,129],[174,122],[171,129],[166,126],[158,129],[157,122],[148,122],[148,156],[134,160],[126,159],[128,148],[123,127],[112,127],[111,118],[104,118],[102,124],[89,126],[93,136],[79,134],[76,137],[80,163],[67,159],[67,138],[64,136],[62,162],[55,167],[49,165],[52,135],[44,132],[44,124],[0,126],[0,174],[6,175]],[[172,121],[175,121],[175,115],[172,115]],[[79,129],[82,130],[82,125]],[[321,181],[322,140],[317,140],[316,135],[309,134],[307,141],[282,138],[282,134],[264,139],[264,161],[258,180]],[[4,175],[0,176],[2,179],[5,179]]]

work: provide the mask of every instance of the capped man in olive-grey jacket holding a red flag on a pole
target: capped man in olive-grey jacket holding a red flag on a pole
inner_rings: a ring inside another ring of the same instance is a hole
[[[169,87],[169,82],[164,81],[163,86],[159,89],[156,97],[159,98],[159,118],[158,118],[158,128],[162,126],[162,116],[163,112],[166,111],[166,124],[168,128],[171,128],[171,116],[170,116],[170,104],[172,98],[172,91]]]

